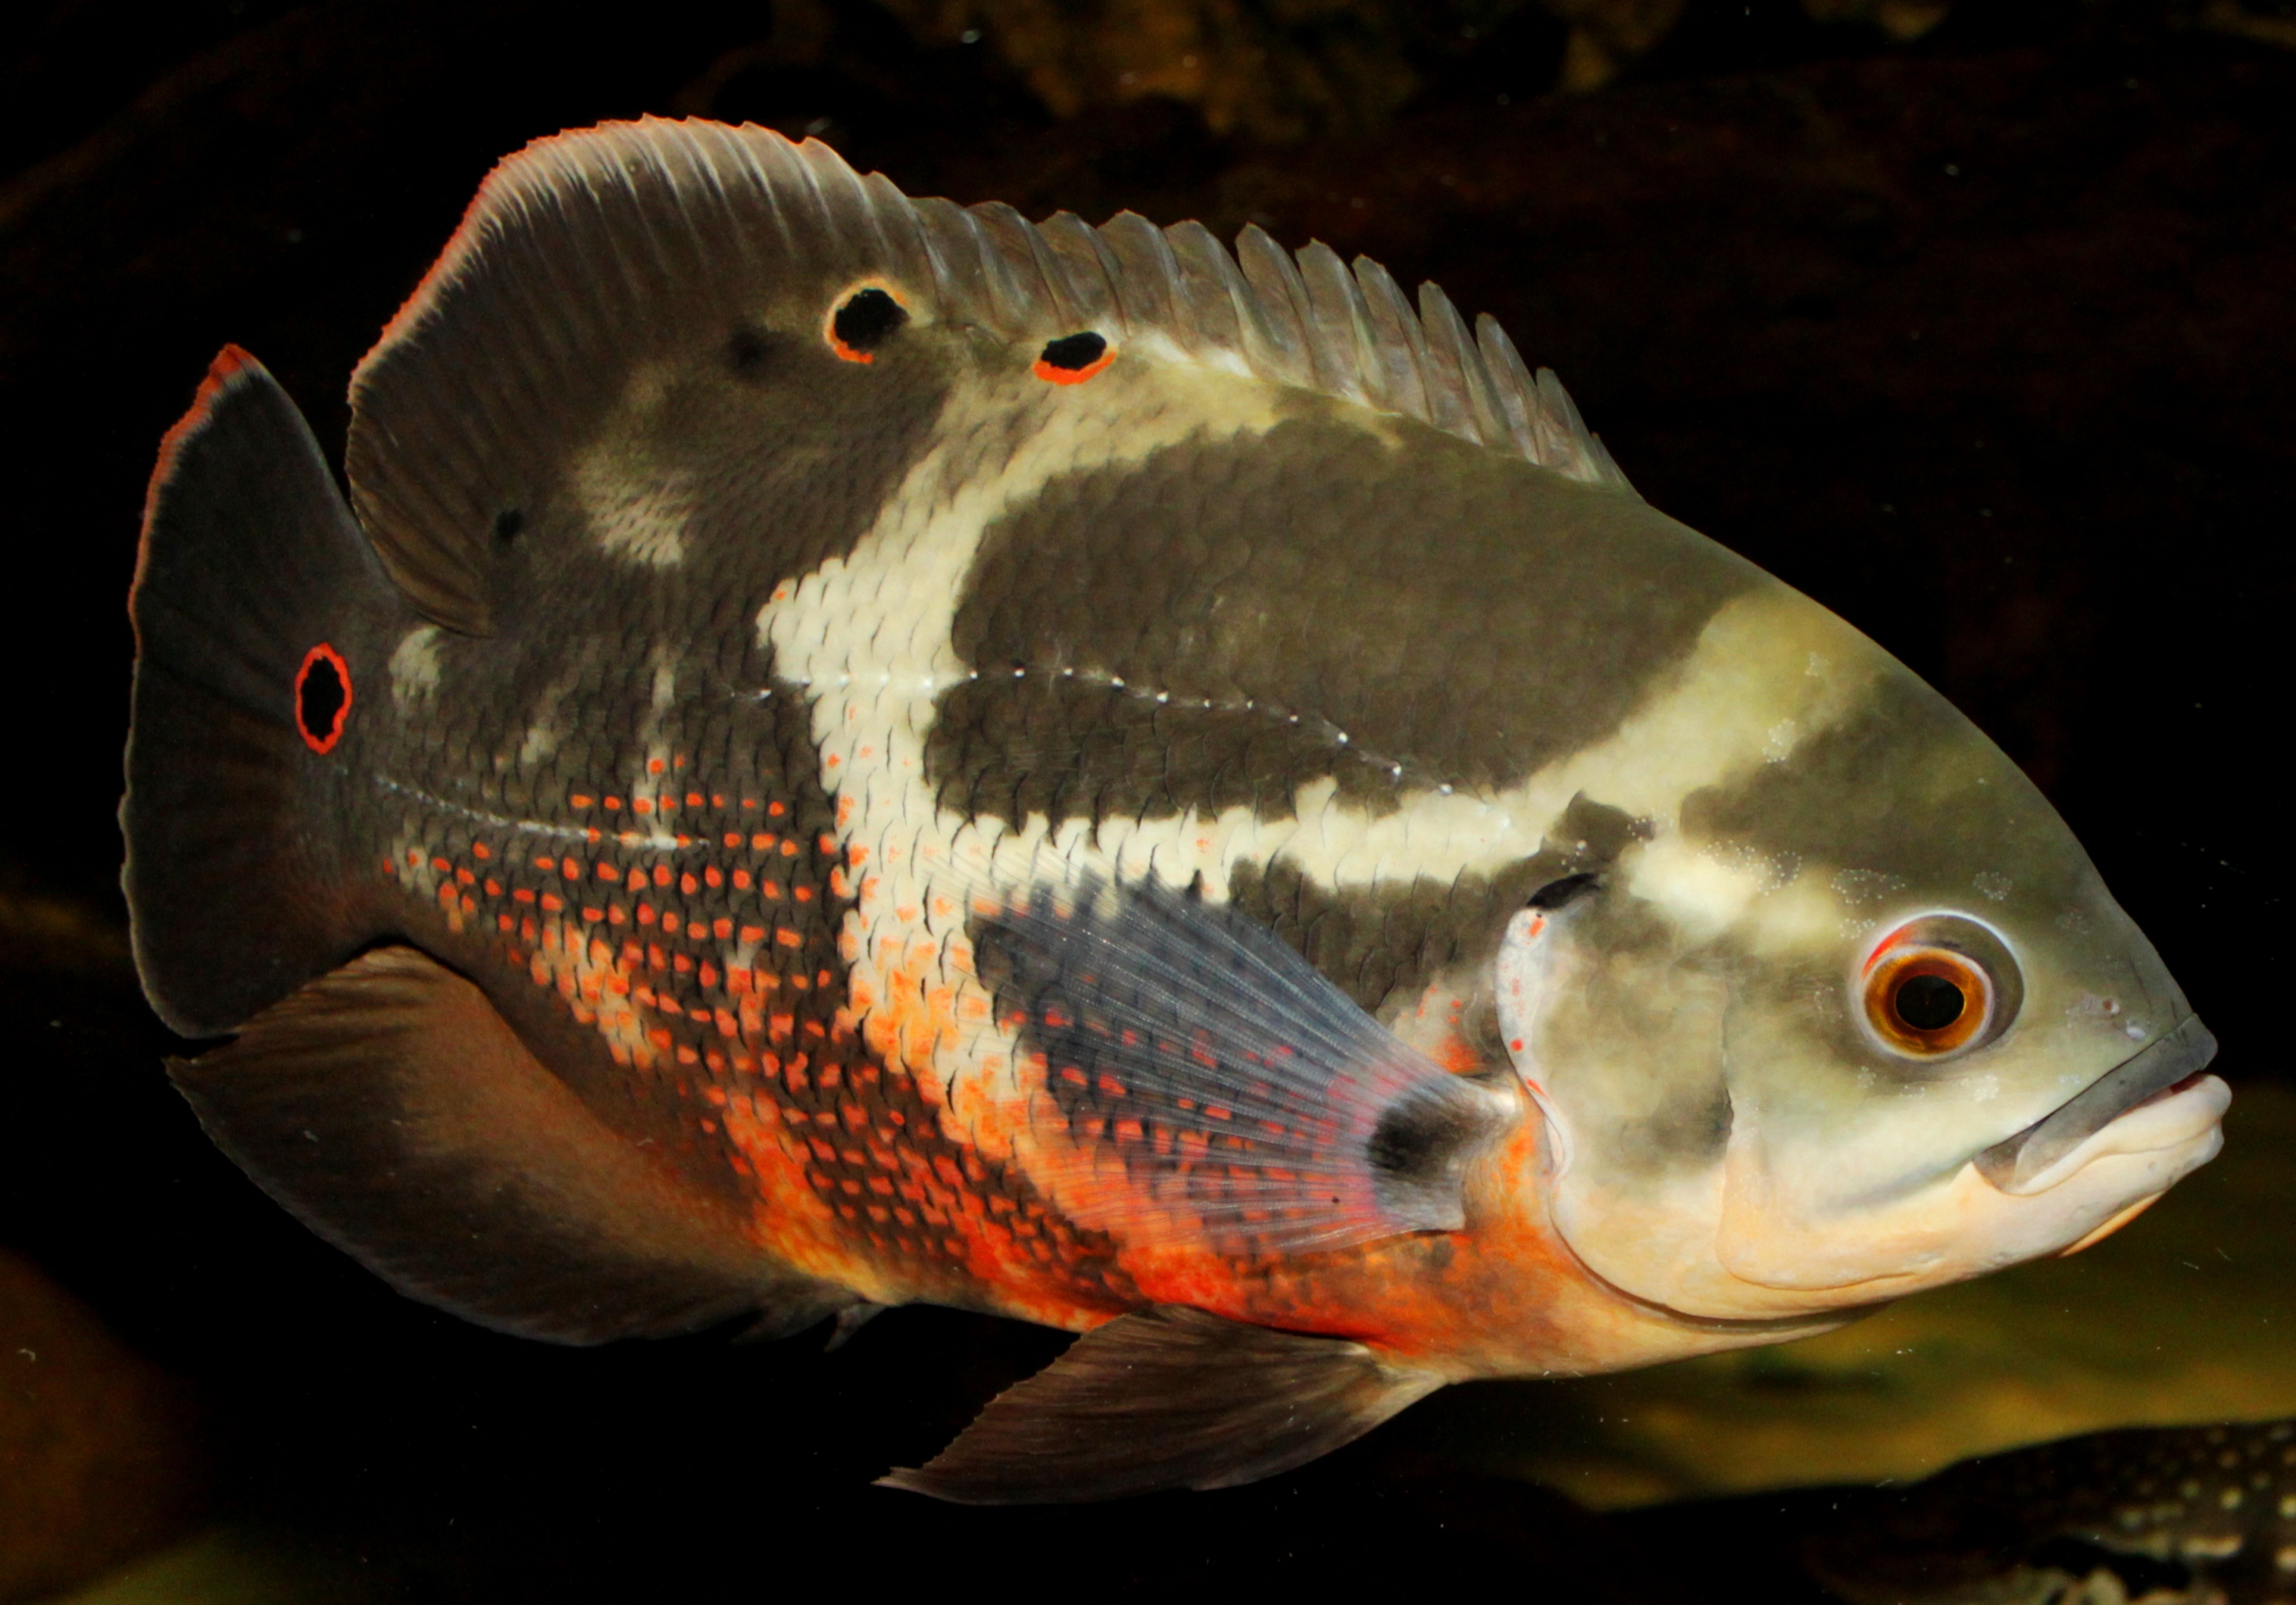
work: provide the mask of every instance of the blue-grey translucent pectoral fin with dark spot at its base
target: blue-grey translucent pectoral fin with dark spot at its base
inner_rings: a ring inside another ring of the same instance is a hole
[[[1256,921],[1155,882],[976,905],[974,932],[1081,1153],[1061,1208],[1127,1242],[1300,1254],[1458,1231],[1467,1160],[1518,1114]]]

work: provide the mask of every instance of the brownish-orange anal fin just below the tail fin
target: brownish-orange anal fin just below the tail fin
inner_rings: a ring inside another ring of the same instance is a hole
[[[604,1343],[762,1311],[785,1334],[852,1302],[608,1130],[475,985],[413,948],[377,948],[168,1070],[312,1231],[496,1332]]]

